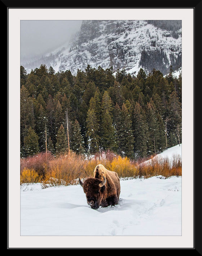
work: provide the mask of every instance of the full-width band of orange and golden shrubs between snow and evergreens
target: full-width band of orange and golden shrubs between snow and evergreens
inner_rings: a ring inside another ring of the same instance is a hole
[[[30,163],[31,159],[28,158]],[[143,160],[142,160],[143,161]],[[33,162],[33,161],[31,161]],[[28,182],[41,182],[44,187],[58,185],[78,184],[78,178],[93,177],[93,171],[97,164],[103,164],[106,169],[118,173],[122,179],[131,179],[136,177],[148,178],[151,176],[162,175],[181,176],[181,157],[174,156],[172,161],[169,159],[151,158],[149,161],[136,163],[127,157],[111,155],[104,159],[85,159],[82,155],[74,152],[70,154],[61,154],[57,157],[49,157],[47,161],[40,160],[43,165],[43,176],[41,175],[39,163],[34,168],[24,168],[21,170],[21,184]],[[26,166],[26,160],[23,160],[23,167]]]

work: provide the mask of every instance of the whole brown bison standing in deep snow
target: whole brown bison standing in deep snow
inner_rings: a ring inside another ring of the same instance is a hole
[[[119,202],[120,179],[116,172],[107,170],[102,164],[95,167],[93,178],[88,178],[84,182],[79,178],[79,184],[92,209],[97,210],[100,205],[117,205]]]

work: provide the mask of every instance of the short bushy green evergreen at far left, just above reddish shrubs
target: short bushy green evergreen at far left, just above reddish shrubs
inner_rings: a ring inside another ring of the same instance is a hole
[[[31,128],[28,129],[27,135],[25,137],[25,154],[34,155],[39,152],[39,137],[35,131]]]

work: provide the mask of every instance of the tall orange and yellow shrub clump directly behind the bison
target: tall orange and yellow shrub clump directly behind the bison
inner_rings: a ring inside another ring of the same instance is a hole
[[[117,156],[112,159],[86,160],[81,155],[71,153],[49,161],[43,184],[51,186],[78,184],[79,177],[84,179],[93,177],[97,164],[103,164],[110,171],[117,172],[119,177],[137,176],[136,166],[128,158]]]

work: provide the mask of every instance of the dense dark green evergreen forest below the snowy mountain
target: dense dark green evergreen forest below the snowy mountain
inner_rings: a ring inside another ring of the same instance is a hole
[[[55,72],[20,68],[21,157],[68,150],[113,151],[139,159],[181,143],[181,75],[153,69],[136,76],[87,65]]]

